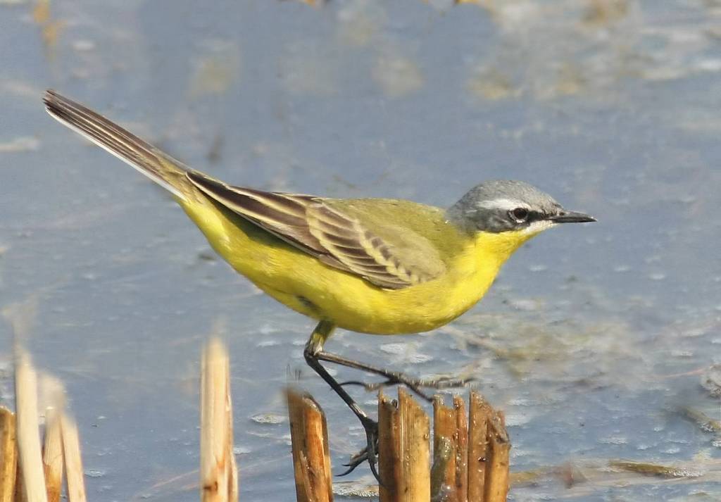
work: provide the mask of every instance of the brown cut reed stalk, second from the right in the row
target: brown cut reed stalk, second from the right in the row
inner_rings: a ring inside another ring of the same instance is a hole
[[[490,405],[479,395],[471,392],[468,420],[468,500],[484,500],[486,470],[488,467],[488,419]]]

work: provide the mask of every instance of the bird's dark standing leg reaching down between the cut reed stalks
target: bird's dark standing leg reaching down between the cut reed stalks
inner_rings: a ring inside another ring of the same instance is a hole
[[[303,355],[306,358],[306,363],[308,363],[308,366],[314,369],[314,371],[319,374],[321,378],[324,379],[325,382],[333,390],[335,390],[335,393],[339,395],[343,401],[345,401],[345,404],[348,405],[348,408],[350,408],[353,413],[355,413],[355,416],[358,417],[358,420],[361,420],[361,425],[366,431],[366,448],[350,460],[350,464],[348,464],[348,467],[350,468],[342,475],[348,474],[349,472],[353,471],[355,467],[358,467],[359,464],[363,463],[363,461],[367,460],[368,465],[371,467],[371,472],[373,472],[376,480],[381,483],[381,478],[378,475],[378,470],[376,469],[376,452],[378,449],[378,422],[370,418],[368,415],[366,415],[366,412],[361,410],[361,407],[358,406],[358,403],[355,402],[355,400],[353,400],[353,397],[350,397],[350,395],[348,395],[348,392],[345,392],[345,389],[343,389],[343,387],[328,373],[328,371],[322,366],[322,364],[320,364],[318,358],[318,354],[323,353],[323,343],[331,335],[334,328],[335,326],[332,325],[331,322],[319,322],[313,330],[310,340],[308,340],[308,343],[306,343],[306,348],[303,351]]]

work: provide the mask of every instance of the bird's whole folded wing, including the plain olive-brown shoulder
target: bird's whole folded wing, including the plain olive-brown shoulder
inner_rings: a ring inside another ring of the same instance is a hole
[[[353,206],[312,195],[232,187],[199,172],[188,172],[187,177],[230,211],[323,263],[381,288],[406,288],[446,270],[428,239],[392,222],[364,217],[364,211]]]

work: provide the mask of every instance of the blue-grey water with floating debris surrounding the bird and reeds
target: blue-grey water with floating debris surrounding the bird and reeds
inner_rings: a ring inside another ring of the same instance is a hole
[[[34,306],[25,343],[66,383],[89,499],[197,498],[211,333],[231,351],[242,500],[293,498],[296,371],[336,472],[364,436],[304,366],[313,323],[53,122],[46,87],[236,185],[449,206],[510,178],[593,214],[523,247],[451,325],[327,348],[472,374],[507,413],[514,472],[693,466],[570,488],[539,475],[514,501],[718,500],[721,440],[698,417],[721,419],[721,2],[0,0],[0,63],[0,307]],[[11,347],[5,322],[5,405]]]

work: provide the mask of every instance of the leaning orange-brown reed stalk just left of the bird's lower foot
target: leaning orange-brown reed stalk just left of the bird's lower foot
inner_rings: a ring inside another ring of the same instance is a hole
[[[325,414],[308,394],[286,392],[298,502],[332,502],[333,483]]]

